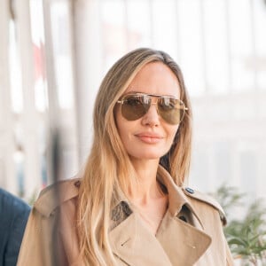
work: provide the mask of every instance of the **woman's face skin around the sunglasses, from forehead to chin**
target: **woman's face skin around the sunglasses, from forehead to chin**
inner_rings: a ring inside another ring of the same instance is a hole
[[[176,75],[160,62],[145,65],[124,94],[135,92],[180,98]],[[178,129],[178,124],[169,124],[160,117],[156,105],[151,105],[148,112],[135,121],[126,120],[118,106],[115,119],[121,142],[132,160],[159,160],[168,153]]]

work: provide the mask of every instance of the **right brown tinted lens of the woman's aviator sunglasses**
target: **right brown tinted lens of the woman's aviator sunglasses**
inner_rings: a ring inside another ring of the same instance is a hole
[[[184,118],[184,103],[176,98],[162,97],[158,99],[158,112],[169,124],[179,124]]]

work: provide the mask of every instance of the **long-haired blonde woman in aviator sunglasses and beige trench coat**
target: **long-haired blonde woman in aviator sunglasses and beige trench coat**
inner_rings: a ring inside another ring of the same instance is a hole
[[[118,60],[98,91],[81,178],[41,193],[19,265],[232,265],[223,210],[184,188],[191,122],[167,53],[143,48]]]

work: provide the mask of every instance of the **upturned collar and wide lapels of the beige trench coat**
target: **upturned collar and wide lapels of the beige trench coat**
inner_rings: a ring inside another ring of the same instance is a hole
[[[158,168],[158,179],[168,190],[169,205],[156,236],[131,211],[129,202],[122,200],[113,212],[118,225],[109,232],[113,253],[128,265],[193,265],[205,253],[211,238],[202,231],[199,216],[164,168]],[[200,229],[177,217],[184,206],[197,218]],[[123,210],[122,216],[118,207]]]

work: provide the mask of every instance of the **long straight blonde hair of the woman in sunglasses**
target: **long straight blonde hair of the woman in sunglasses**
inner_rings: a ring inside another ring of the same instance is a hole
[[[119,59],[108,71],[98,90],[94,106],[94,139],[83,172],[78,202],[78,235],[85,265],[115,265],[108,239],[113,202],[128,194],[133,167],[119,137],[114,108],[137,72],[145,64],[159,61],[168,66],[179,81],[180,98],[188,111],[179,125],[170,151],[160,159],[177,185],[184,184],[191,160],[191,105],[183,74],[163,51],[140,48]],[[122,162],[122,163],[121,163]]]

